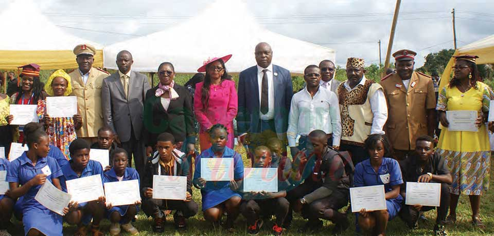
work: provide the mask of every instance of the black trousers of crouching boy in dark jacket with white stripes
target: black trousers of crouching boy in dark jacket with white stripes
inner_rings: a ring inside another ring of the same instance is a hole
[[[197,214],[199,206],[193,200],[184,202],[182,200],[162,200],[162,199],[146,199],[143,202],[143,211],[153,218],[164,217],[161,210],[177,210],[175,216],[183,216],[185,218],[193,217]]]

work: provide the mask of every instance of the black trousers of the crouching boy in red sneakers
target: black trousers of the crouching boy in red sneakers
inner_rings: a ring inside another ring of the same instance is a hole
[[[290,203],[286,198],[248,200],[240,204],[240,212],[247,219],[249,225],[262,216],[276,216],[276,224],[281,227],[287,216]]]

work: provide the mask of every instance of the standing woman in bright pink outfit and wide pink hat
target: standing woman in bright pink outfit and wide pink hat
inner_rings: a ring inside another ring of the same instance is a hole
[[[228,80],[225,63],[232,57],[209,58],[197,71],[206,72],[204,82],[196,85],[194,112],[199,122],[199,143],[201,152],[211,147],[207,130],[215,124],[228,129],[226,146],[233,149],[233,119],[237,115],[237,90],[235,82]]]

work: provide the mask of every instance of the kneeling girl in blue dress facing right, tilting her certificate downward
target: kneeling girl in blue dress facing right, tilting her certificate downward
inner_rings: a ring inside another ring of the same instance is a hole
[[[41,185],[51,182],[58,189],[59,177],[63,174],[57,161],[48,152],[49,137],[42,130],[36,130],[25,136],[29,150],[10,163],[7,182],[9,195],[13,199],[24,196],[20,203],[25,235],[28,236],[62,236],[62,216],[48,210],[34,199]],[[64,213],[68,208],[64,209]]]

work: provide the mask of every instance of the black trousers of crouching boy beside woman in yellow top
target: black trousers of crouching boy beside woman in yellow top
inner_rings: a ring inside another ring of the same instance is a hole
[[[423,206],[420,211],[430,211],[437,208],[436,224],[443,224],[442,222],[446,220],[446,215],[448,214],[450,201],[449,194],[449,184],[441,184],[441,202],[439,207]],[[401,220],[403,220],[408,227],[413,228],[415,223],[418,221],[418,212],[413,206],[403,205],[399,212]]]

